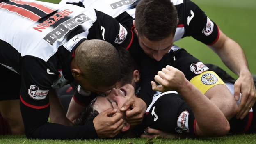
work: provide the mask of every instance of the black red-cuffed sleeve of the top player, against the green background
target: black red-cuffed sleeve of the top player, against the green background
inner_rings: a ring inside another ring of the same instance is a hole
[[[184,0],[184,2],[186,35],[206,45],[213,45],[219,39],[219,28],[216,23],[190,0]]]

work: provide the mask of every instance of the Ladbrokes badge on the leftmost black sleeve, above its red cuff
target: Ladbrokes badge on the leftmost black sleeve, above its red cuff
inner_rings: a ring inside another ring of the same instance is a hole
[[[30,85],[30,88],[27,90],[29,96],[35,100],[41,100],[46,98],[49,90],[41,90],[36,85]]]

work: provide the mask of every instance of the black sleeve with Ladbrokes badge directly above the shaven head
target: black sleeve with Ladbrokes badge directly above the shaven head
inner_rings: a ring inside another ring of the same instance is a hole
[[[101,11],[95,11],[97,22],[89,29],[88,39],[103,39],[112,45],[127,48],[132,40],[131,31],[111,16]],[[101,34],[97,36],[95,31],[99,31]]]

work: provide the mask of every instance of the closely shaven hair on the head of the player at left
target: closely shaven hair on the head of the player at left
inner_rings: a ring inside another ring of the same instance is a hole
[[[117,50],[107,41],[85,40],[75,51],[75,62],[94,87],[109,87],[120,79]]]

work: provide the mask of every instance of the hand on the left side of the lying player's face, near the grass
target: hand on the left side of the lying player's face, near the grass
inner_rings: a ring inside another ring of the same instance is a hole
[[[93,123],[98,137],[112,138],[116,136],[124,126],[125,121],[122,117],[121,113],[113,109],[107,109],[96,116]]]

